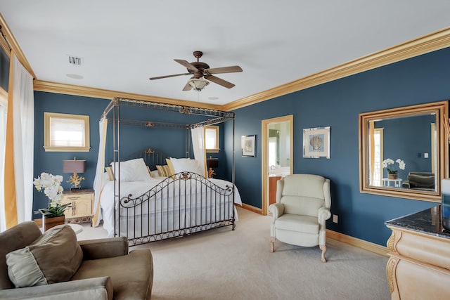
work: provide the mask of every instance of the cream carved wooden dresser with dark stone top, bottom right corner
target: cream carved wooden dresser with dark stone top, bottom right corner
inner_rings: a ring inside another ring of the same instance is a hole
[[[392,299],[450,299],[450,233],[441,206],[387,221],[390,259],[386,274]]]

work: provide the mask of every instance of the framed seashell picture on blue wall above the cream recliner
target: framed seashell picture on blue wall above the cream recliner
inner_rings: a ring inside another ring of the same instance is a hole
[[[303,129],[303,157],[330,158],[330,126]]]

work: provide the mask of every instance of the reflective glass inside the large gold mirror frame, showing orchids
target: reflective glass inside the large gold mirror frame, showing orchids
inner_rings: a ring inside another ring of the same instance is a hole
[[[436,191],[436,114],[368,122],[369,185]]]

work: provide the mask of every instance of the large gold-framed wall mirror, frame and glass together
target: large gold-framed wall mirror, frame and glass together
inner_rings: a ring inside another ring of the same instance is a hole
[[[441,202],[447,100],[359,114],[361,193]]]

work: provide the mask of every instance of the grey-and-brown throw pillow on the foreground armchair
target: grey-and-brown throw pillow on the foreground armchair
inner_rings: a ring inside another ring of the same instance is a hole
[[[82,261],[77,236],[68,225],[55,226],[29,246],[6,254],[9,279],[15,287],[68,281]]]

